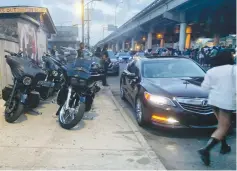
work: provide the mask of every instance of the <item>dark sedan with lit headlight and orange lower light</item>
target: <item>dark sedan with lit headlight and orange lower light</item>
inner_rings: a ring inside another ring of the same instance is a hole
[[[132,104],[140,126],[214,128],[217,119],[200,86],[204,75],[189,58],[136,58],[121,74],[120,96]]]

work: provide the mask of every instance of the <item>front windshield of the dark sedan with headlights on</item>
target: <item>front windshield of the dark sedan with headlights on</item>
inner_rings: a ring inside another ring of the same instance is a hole
[[[205,72],[189,59],[161,59],[143,63],[145,78],[204,77]]]

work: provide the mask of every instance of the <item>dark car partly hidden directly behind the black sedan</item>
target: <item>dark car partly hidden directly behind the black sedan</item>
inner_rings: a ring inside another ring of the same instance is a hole
[[[108,50],[108,54],[109,54],[109,58],[111,63],[109,64],[109,68],[108,68],[108,74],[113,74],[118,76],[120,69],[119,69],[119,60],[117,59],[117,57],[114,55],[114,52],[111,50]]]

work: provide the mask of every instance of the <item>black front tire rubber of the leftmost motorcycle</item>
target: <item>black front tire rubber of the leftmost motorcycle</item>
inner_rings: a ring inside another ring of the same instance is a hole
[[[4,112],[5,120],[8,123],[13,123],[21,116],[21,114],[23,114],[23,112],[24,112],[24,105],[20,102],[15,104],[14,109],[12,109],[11,112],[7,112],[7,106],[6,106],[5,112]]]

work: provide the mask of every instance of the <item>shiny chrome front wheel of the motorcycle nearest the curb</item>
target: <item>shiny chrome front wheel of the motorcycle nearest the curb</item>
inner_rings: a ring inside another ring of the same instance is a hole
[[[73,127],[75,127],[83,118],[85,108],[85,104],[80,103],[78,110],[72,112],[70,110],[65,110],[64,105],[61,106],[58,110],[58,120],[60,126],[64,129],[72,129]]]

